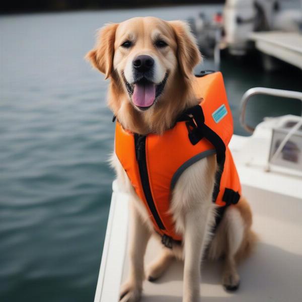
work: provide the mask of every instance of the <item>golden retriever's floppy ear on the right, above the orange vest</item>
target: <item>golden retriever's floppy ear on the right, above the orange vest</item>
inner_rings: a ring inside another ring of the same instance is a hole
[[[172,26],[176,37],[177,58],[180,70],[186,78],[189,78],[195,65],[201,61],[201,54],[187,23],[183,21],[169,21],[169,24]]]

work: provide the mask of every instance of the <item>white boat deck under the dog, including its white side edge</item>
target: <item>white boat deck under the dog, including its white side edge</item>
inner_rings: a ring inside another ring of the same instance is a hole
[[[255,253],[239,267],[241,285],[234,293],[221,286],[221,262],[202,265],[201,297],[204,302],[299,302],[302,297],[302,179],[262,168],[241,165],[239,149],[247,138],[234,136],[232,152],[253,214],[253,229],[260,242]],[[276,189],[277,188],[277,189]],[[95,302],[118,301],[128,260],[127,195],[113,185],[112,203]],[[145,263],[161,246],[151,240]],[[142,302],[182,301],[183,264],[175,262],[158,281],[143,284]]]

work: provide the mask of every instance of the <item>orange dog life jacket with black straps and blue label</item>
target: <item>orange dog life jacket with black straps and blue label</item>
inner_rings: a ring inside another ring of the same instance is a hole
[[[213,202],[221,209],[237,203],[241,194],[239,177],[228,147],[233,135],[233,118],[222,74],[214,72],[195,79],[196,97],[202,101],[184,112],[175,126],[163,135],[133,134],[116,123],[115,153],[145,205],[155,230],[164,236],[164,244],[167,238],[182,239],[175,232],[169,207],[179,177],[192,164],[216,154],[220,169],[216,173]],[[170,243],[168,247],[171,247]]]

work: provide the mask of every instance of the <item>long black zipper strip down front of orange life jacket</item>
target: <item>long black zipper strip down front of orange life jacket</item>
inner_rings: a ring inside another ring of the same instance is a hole
[[[147,201],[148,207],[161,230],[165,230],[165,226],[160,218],[160,215],[156,209],[153,196],[150,189],[148,170],[147,170],[147,161],[146,161],[146,136],[145,135],[134,135],[135,142],[135,155],[136,161],[138,164],[140,182],[142,190]]]

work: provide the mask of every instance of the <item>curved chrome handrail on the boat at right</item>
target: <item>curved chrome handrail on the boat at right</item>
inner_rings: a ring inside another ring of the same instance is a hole
[[[241,99],[241,114],[240,114],[240,122],[242,126],[249,132],[253,133],[255,128],[246,124],[245,121],[245,113],[246,107],[249,99],[254,95],[269,95],[274,97],[282,97],[282,98],[289,98],[289,99],[297,99],[302,102],[302,92],[298,91],[290,91],[290,90],[282,90],[282,89],[272,89],[272,88],[263,88],[263,87],[255,87],[249,89]],[[301,110],[302,116],[302,110]]]

